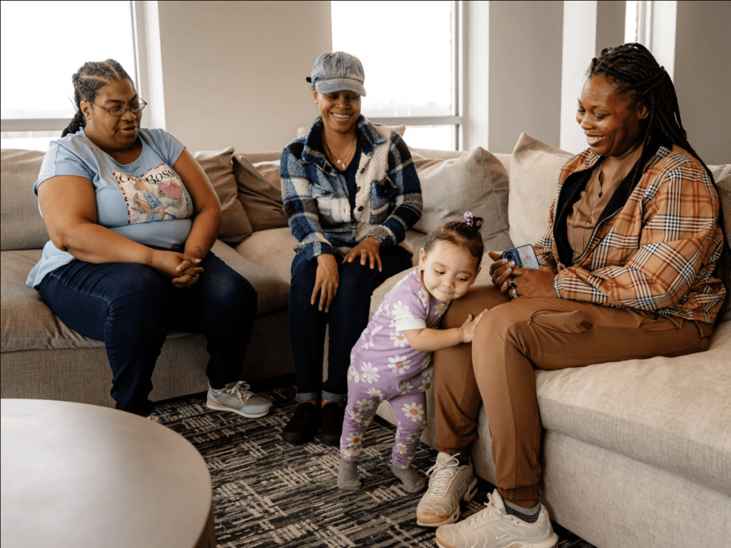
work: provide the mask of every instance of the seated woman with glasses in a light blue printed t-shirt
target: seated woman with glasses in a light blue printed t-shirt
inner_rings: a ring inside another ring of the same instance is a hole
[[[140,127],[145,102],[117,61],[72,77],[76,114],[34,185],[50,241],[28,285],[68,327],[104,341],[118,409],[149,416],[168,330],[202,332],[209,408],[264,416],[239,381],[257,292],[211,253],[221,207],[178,140]]]

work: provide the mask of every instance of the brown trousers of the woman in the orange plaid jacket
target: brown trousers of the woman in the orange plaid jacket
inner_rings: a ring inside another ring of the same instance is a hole
[[[484,403],[500,495],[526,507],[538,502],[541,477],[534,368],[692,354],[708,348],[712,331],[710,324],[579,301],[509,302],[495,286],[472,288],[452,302],[442,327],[485,308],[471,344],[434,353],[436,444],[450,454],[469,447]]]

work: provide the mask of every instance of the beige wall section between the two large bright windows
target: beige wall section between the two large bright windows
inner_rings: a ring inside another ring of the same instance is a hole
[[[329,1],[159,2],[167,131],[192,151],[281,151],[317,117]]]

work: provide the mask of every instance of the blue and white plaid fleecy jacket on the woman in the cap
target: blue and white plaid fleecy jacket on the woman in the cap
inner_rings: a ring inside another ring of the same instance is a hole
[[[393,129],[373,124],[363,115],[356,132],[361,155],[352,212],[345,177],[323,152],[322,117],[281,153],[284,212],[299,242],[295,251],[308,259],[325,253],[347,254],[370,236],[382,248],[401,244],[412,251],[404,238],[421,217],[422,197],[409,148]]]

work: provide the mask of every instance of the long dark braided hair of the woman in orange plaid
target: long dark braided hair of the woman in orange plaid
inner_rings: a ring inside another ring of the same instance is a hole
[[[718,191],[711,170],[688,142],[688,136],[681,121],[681,111],[678,107],[678,96],[675,95],[673,80],[670,79],[664,66],[659,65],[650,50],[642,44],[636,43],[606,47],[602,53],[599,53],[599,57],[591,60],[586,75],[587,77],[606,77],[619,94],[629,94],[636,103],[645,105],[649,115],[645,121],[642,153],[645,152],[645,146],[652,137],[663,135],[674,145],[688,151],[697,161],[700,161],[708,173],[708,177],[711,178],[711,183]],[[640,162],[637,162],[632,175],[633,187],[639,178]],[[723,211],[720,208],[718,223],[727,243]],[[726,243],[722,246],[719,262],[716,263],[716,273],[720,275],[721,281],[727,289],[726,299],[717,321],[723,317],[731,296],[731,257]]]

